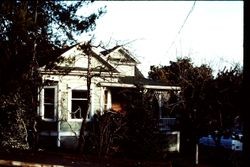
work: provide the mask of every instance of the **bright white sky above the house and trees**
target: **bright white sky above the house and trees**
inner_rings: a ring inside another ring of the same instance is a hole
[[[207,64],[214,74],[243,65],[243,1],[95,1],[79,14],[104,6],[96,29],[78,40],[125,44],[145,77],[151,65],[169,65],[178,57]]]

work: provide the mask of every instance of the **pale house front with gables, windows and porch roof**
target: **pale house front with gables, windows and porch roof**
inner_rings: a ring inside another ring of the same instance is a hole
[[[158,92],[159,106],[169,91],[180,91],[180,87],[144,78],[137,68],[138,60],[122,46],[105,51],[92,48],[88,52],[80,46],[64,52],[61,55],[64,61],[55,68],[40,69],[44,86],[39,90],[39,143],[43,145],[76,147],[82,117],[86,113],[90,121],[96,112],[123,111],[126,99],[119,97],[118,90],[134,89],[138,85],[144,91],[154,90]],[[91,78],[90,102],[87,76]],[[165,119],[162,114],[159,118]]]

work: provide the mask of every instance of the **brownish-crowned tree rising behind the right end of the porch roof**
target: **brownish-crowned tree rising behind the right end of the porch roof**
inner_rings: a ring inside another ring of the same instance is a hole
[[[169,85],[181,86],[182,103],[179,106],[182,119],[182,136],[183,139],[195,138],[196,129],[200,127],[202,121],[197,118],[197,112],[200,112],[200,103],[204,99],[203,89],[205,83],[212,80],[212,69],[206,65],[194,67],[190,58],[178,58],[176,62],[170,62],[169,66],[151,67],[149,78],[153,80],[162,80]],[[188,141],[195,141],[191,139]],[[182,141],[183,145],[190,144]],[[188,148],[187,150],[190,150]]]

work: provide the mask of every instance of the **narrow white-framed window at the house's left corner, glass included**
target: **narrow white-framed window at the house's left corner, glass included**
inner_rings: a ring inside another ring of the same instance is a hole
[[[46,86],[41,91],[41,115],[44,120],[54,121],[56,117],[56,86]]]

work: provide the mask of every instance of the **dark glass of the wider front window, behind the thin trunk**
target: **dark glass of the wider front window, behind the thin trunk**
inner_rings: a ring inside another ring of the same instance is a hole
[[[71,97],[71,119],[81,119],[88,110],[88,99],[86,90],[72,90]]]

